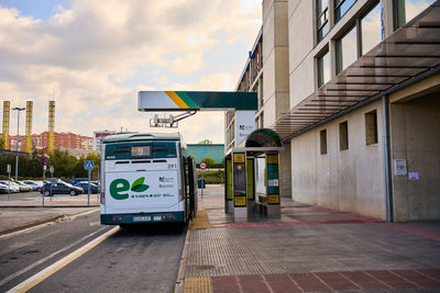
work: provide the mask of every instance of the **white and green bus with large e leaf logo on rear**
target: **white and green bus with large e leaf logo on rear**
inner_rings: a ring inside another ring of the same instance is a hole
[[[196,216],[195,160],[179,134],[122,133],[101,145],[101,224],[188,223]]]

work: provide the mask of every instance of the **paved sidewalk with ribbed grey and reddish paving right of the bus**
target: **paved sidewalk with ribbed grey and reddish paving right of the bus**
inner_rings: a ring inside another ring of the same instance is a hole
[[[177,290],[440,291],[440,222],[384,223],[283,199],[280,219],[234,224],[223,205],[222,187],[208,187],[199,214],[210,228],[188,230]]]

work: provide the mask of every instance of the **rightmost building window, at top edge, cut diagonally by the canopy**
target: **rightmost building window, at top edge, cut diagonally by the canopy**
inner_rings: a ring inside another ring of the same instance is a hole
[[[397,30],[436,0],[394,0],[394,29]]]

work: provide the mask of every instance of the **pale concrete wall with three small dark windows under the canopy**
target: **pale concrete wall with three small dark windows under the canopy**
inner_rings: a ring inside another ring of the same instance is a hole
[[[378,143],[365,144],[365,113],[377,111]],[[340,150],[339,123],[348,121],[349,149]],[[292,198],[295,201],[386,218],[381,102],[366,105],[294,137]],[[320,131],[327,129],[327,155]]]

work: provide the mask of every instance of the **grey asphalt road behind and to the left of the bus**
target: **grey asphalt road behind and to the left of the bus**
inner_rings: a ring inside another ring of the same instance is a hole
[[[99,212],[0,237],[0,292],[10,290],[113,227]],[[172,292],[186,230],[120,229],[30,292]]]

